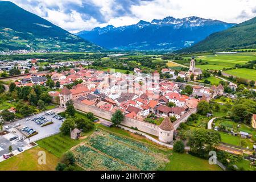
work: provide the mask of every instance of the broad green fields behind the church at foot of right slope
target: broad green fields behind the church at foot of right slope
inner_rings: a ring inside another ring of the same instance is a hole
[[[191,57],[183,57],[185,60],[179,61],[177,63],[189,65],[188,59]],[[256,60],[256,55],[254,52],[243,52],[230,55],[204,55],[196,56],[196,67],[201,69],[223,69],[223,68],[232,68],[236,64],[245,64],[248,61]],[[199,61],[201,60],[201,63]],[[208,64],[205,64],[208,63]]]

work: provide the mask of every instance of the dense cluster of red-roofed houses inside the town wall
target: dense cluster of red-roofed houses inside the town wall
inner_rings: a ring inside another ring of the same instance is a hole
[[[143,121],[149,114],[179,119],[189,110],[197,107],[201,100],[209,101],[214,95],[224,92],[222,85],[215,88],[194,87],[191,96],[181,94],[183,84],[159,80],[159,73],[142,75],[109,73],[93,69],[71,69],[68,72],[52,73],[53,81],[60,81],[60,104],[65,107],[68,100],[114,112],[121,110],[126,117]],[[72,89],[65,87],[75,80],[81,84]],[[213,89],[213,90],[212,90]],[[56,93],[55,93],[56,94]],[[195,97],[196,96],[196,97]],[[175,106],[169,107],[173,102]]]

